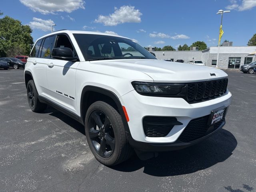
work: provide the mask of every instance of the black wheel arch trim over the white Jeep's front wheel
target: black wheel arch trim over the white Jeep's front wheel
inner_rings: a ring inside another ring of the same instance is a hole
[[[86,112],[90,104],[98,100],[107,102],[112,106],[114,105],[113,107],[119,112],[120,116],[122,117],[125,131],[130,133],[128,122],[126,120],[126,116],[124,114],[124,110],[122,108],[122,104],[119,98],[112,91],[97,86],[85,86],[82,90],[80,100],[80,115],[82,121],[85,123]]]

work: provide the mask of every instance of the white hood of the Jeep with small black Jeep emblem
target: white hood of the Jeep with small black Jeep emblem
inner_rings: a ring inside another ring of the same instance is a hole
[[[91,63],[140,71],[150,76],[154,82],[195,82],[228,76],[224,71],[213,67],[154,59],[100,60]]]

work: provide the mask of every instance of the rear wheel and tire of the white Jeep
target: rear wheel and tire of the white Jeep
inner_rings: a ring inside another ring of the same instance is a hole
[[[38,99],[38,92],[33,80],[29,80],[27,84],[28,104],[33,112],[42,112],[47,108],[47,105],[41,103]]]

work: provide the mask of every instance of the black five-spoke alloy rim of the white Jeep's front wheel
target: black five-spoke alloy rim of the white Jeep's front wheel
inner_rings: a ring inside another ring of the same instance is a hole
[[[88,120],[88,130],[97,154],[103,158],[110,157],[115,148],[115,135],[108,116],[101,110],[94,110]]]

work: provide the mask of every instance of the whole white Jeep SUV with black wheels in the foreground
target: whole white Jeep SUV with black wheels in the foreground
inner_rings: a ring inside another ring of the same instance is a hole
[[[129,38],[61,30],[39,38],[24,78],[32,111],[50,105],[84,125],[106,165],[182,149],[225,124],[222,70],[157,60]]]

